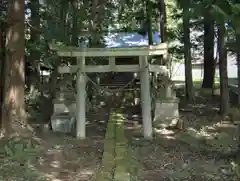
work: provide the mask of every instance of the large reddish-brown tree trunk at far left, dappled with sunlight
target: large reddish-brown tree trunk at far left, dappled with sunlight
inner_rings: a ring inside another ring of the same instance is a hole
[[[24,0],[12,0],[8,9],[6,64],[3,104],[3,131],[18,132],[26,125],[24,103]]]

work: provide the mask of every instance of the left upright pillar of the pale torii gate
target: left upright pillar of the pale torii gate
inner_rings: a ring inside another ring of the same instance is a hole
[[[84,139],[86,137],[86,77],[84,74],[85,58],[78,57],[77,64],[80,66],[80,68],[77,72],[76,137]]]

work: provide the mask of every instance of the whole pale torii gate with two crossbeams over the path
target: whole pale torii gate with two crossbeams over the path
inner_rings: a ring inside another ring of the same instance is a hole
[[[150,72],[167,73],[166,66],[149,64],[151,55],[166,55],[167,44],[162,43],[153,46],[130,48],[79,48],[60,46],[52,43],[51,50],[61,57],[76,57],[77,65],[61,66],[58,71],[61,74],[77,71],[77,100],[76,100],[76,136],[84,139],[86,136],[86,77],[85,73],[93,72],[139,72],[141,83],[141,104],[143,117],[143,134],[145,138],[152,137]],[[132,56],[139,57],[136,65],[116,65],[115,57]],[[108,65],[86,65],[85,57],[108,57]]]

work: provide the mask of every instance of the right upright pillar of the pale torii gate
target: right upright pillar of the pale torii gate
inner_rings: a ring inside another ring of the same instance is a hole
[[[141,82],[141,103],[143,118],[144,138],[152,138],[152,116],[151,116],[151,93],[150,93],[150,75],[148,70],[148,57],[140,56],[140,82]]]

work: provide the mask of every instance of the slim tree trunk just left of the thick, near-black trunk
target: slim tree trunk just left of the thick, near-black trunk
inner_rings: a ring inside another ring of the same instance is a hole
[[[183,33],[184,33],[184,59],[185,59],[185,93],[189,102],[194,100],[193,80],[192,80],[192,58],[190,42],[190,18],[189,7],[183,7]]]

